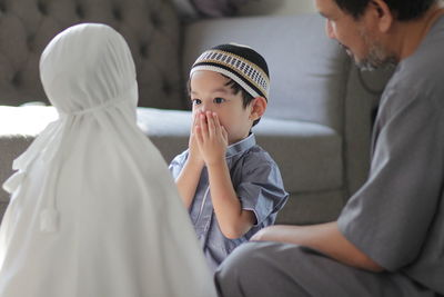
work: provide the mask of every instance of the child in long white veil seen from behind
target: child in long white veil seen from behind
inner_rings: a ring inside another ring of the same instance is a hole
[[[135,121],[123,38],[84,23],[40,59],[59,112],[14,162],[0,228],[0,297],[211,297],[167,165]]]

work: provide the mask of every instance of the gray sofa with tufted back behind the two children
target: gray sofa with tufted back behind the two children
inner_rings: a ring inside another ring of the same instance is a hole
[[[6,3],[10,3],[7,7]],[[316,14],[186,18],[184,0],[14,0],[0,2],[0,182],[12,160],[57,118],[38,60],[48,41],[79,22],[104,22],[130,44],[139,81],[139,126],[169,162],[186,148],[191,63],[212,46],[252,46],[269,62],[271,95],[254,128],[281,168],[289,202],[279,222],[334,219],[369,168],[372,116],[390,73],[361,73],[324,34]],[[16,106],[16,107],[12,107]],[[9,197],[0,192],[0,216]]]

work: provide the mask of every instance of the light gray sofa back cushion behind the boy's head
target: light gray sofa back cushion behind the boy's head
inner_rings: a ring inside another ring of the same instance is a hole
[[[185,30],[184,76],[199,52],[212,44],[251,46],[269,63],[268,117],[317,122],[341,131],[351,63],[323,28],[324,21],[311,14],[268,17],[265,22],[263,17],[194,22]]]

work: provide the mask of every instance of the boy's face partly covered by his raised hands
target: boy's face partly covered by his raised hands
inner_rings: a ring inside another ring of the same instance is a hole
[[[225,128],[229,143],[234,143],[249,136],[253,121],[254,100],[243,107],[242,92],[234,93],[230,79],[221,73],[208,70],[195,71],[190,80],[193,118],[199,111],[213,111],[218,113],[221,125]]]

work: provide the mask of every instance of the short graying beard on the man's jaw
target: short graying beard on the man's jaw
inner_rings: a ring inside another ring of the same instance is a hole
[[[387,50],[377,41],[371,40],[365,29],[361,28],[361,37],[369,48],[369,55],[362,60],[357,60],[354,57],[354,61],[361,70],[376,70],[376,69],[391,69],[396,67],[397,59],[395,55],[387,52]],[[350,50],[347,50],[351,53]],[[351,53],[353,56],[353,53]]]

